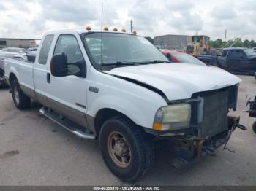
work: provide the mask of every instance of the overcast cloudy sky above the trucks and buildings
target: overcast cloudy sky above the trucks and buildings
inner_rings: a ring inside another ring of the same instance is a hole
[[[256,0],[0,0],[0,38],[41,38],[45,31],[67,28],[129,29],[138,34],[206,34],[256,40]]]

